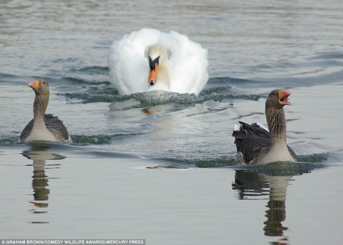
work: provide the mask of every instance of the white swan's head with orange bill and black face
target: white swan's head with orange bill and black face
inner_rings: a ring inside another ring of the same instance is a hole
[[[154,85],[157,82],[158,67],[168,60],[167,50],[165,47],[155,44],[149,47],[147,56],[150,67],[148,82],[150,85]]]

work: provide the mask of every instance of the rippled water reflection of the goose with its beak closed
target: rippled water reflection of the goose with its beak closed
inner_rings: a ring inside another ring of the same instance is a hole
[[[48,199],[50,190],[47,188],[49,178],[45,173],[46,168],[59,168],[60,164],[46,164],[46,160],[61,160],[66,158],[65,156],[51,153],[48,149],[48,144],[33,143],[31,149],[23,151],[22,155],[27,159],[33,160],[32,164],[26,166],[33,166],[32,176],[32,188],[33,188],[33,201],[35,208],[29,210],[32,213],[47,213],[47,211],[39,210],[40,208],[48,207]],[[32,221],[31,223],[49,223],[44,221]]]

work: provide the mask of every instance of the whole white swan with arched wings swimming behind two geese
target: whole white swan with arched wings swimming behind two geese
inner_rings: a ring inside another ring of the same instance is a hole
[[[197,95],[209,78],[207,49],[174,31],[144,28],[126,34],[113,42],[107,61],[119,94],[162,90]]]

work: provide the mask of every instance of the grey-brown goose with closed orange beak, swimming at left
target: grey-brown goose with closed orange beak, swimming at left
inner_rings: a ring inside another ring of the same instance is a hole
[[[45,114],[49,102],[49,85],[45,80],[35,80],[27,84],[36,94],[33,103],[34,117],[23,129],[20,142],[54,141],[72,143],[63,121],[52,114]]]

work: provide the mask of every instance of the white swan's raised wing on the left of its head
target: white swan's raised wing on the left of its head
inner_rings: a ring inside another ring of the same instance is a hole
[[[107,58],[111,83],[119,94],[146,92],[149,65],[146,49],[159,40],[158,30],[144,28],[123,36],[110,46]]]

